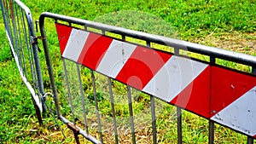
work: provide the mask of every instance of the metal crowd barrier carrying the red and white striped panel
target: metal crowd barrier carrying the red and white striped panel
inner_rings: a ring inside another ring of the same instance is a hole
[[[63,97],[65,92],[57,89],[55,84],[54,65],[49,55],[44,19],[55,20],[56,31],[60,42],[61,58],[64,67],[65,89],[71,107],[73,123],[61,114],[58,94]],[[67,25],[66,25],[67,24]],[[97,87],[108,85],[109,107],[108,113],[113,124],[109,127],[113,131],[115,143],[120,142],[117,124],[116,105],[113,91],[116,82],[127,95],[119,95],[127,100],[129,107],[129,123],[132,143],[137,142],[134,122],[133,90],[142,91],[150,97],[151,135],[152,142],[157,143],[155,118],[155,98],[177,106],[177,143],[183,143],[182,109],[193,112],[208,119],[209,143],[214,140],[214,124],[224,125],[231,130],[247,135],[247,143],[253,143],[256,137],[255,102],[256,91],[256,57],[238,54],[224,49],[216,49],[200,44],[184,42],[168,37],[160,37],[144,32],[135,32],[116,26],[108,26],[89,20],[80,20],[60,14],[43,13],[40,15],[39,26],[43,37],[44,53],[49,70],[49,79],[55,101],[55,111],[58,118],[73,130],[76,141],[78,135],[83,135],[93,143],[103,143],[106,135],[102,130],[102,114],[99,102],[102,99],[97,93]],[[93,29],[93,30],[92,30]],[[97,30],[97,31],[95,31]],[[108,34],[107,34],[108,33]],[[119,37],[113,37],[119,35]],[[146,42],[141,45],[128,42],[127,37],[137,38]],[[173,49],[174,54],[152,47],[158,43]],[[209,60],[199,60],[183,55],[182,50],[188,50],[200,55],[207,55]],[[240,72],[228,67],[218,66],[216,59],[230,60],[252,68],[252,73]],[[71,65],[69,67],[69,65]],[[254,73],[254,74],[253,74]],[[90,78],[84,77],[90,75]],[[96,75],[98,78],[96,78]],[[72,78],[76,80],[71,80]],[[101,80],[107,78],[107,82]],[[89,81],[89,82],[88,82]],[[97,82],[99,81],[99,82]],[[74,83],[74,84],[73,84]],[[84,84],[89,83],[89,84]],[[101,84],[97,84],[101,83]],[[77,89],[76,89],[77,88]],[[93,96],[93,98],[90,98]],[[79,114],[75,113],[75,103],[81,102],[80,113],[83,124],[77,123]],[[95,115],[98,136],[90,132],[88,114],[92,108],[88,102],[95,102]],[[105,100],[107,101],[107,100]],[[246,121],[243,121],[246,119]],[[84,129],[79,127],[84,126]],[[108,136],[108,135],[107,135]],[[96,140],[97,139],[99,140]],[[110,137],[107,137],[110,138]]]

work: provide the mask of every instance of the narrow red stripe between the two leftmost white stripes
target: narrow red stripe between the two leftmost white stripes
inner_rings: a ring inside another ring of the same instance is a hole
[[[78,62],[96,70],[96,67],[101,62],[102,57],[106,53],[112,40],[113,39],[109,37],[90,33],[84,43],[84,48],[79,56]]]

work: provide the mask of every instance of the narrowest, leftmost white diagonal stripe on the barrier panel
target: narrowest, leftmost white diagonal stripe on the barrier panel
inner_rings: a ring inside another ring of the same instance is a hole
[[[62,56],[69,60],[78,61],[88,35],[89,32],[73,28]]]

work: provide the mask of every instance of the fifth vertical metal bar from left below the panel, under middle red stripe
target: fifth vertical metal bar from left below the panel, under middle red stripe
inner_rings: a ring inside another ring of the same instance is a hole
[[[134,129],[134,120],[133,120],[133,111],[132,111],[132,101],[131,101],[131,87],[127,85],[128,92],[128,105],[129,105],[129,113],[130,113],[130,124],[131,124],[131,135],[132,135],[132,143],[136,143],[135,137],[135,129]]]

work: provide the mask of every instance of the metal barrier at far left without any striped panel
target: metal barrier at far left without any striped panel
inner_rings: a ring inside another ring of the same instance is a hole
[[[19,0],[0,0],[5,31],[20,77],[32,95],[38,121],[43,124],[40,112],[44,86],[38,59],[38,37],[35,36],[32,13]]]

